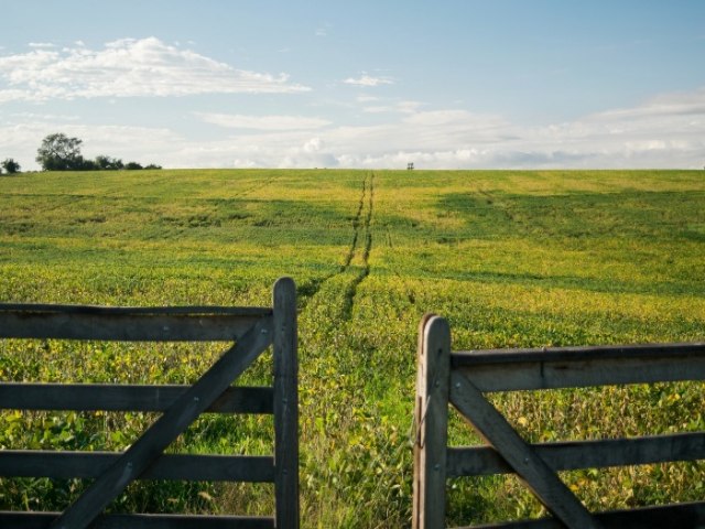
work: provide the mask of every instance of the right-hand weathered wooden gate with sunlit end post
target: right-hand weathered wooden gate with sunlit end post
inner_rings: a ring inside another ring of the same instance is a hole
[[[421,323],[414,449],[414,529],[445,527],[446,478],[514,473],[553,517],[482,527],[705,527],[705,501],[589,512],[557,471],[705,458],[705,432],[527,443],[482,392],[705,379],[705,344],[451,352],[438,316]],[[705,398],[704,398],[705,399]],[[447,446],[448,402],[488,446]]]

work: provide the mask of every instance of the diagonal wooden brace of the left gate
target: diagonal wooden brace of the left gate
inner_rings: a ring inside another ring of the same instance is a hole
[[[128,484],[142,474],[271,343],[272,317],[260,320],[182,395],[110,468],[53,523],[53,529],[85,529]]]

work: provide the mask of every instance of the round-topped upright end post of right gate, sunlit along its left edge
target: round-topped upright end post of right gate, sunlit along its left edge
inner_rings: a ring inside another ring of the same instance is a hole
[[[448,323],[424,316],[416,357],[413,529],[445,527],[449,355]]]

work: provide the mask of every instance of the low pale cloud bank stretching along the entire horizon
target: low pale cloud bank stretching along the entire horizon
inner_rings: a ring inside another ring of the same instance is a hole
[[[360,108],[367,100],[358,101]],[[87,126],[73,116],[19,112],[0,117],[0,144],[30,169],[41,139],[64,131],[84,153],[109,152],[169,168],[404,169],[702,169],[705,89],[662,95],[643,105],[570,122],[520,126],[462,109],[390,105],[378,125],[319,117],[194,114],[226,131],[217,140],[167,128]]]

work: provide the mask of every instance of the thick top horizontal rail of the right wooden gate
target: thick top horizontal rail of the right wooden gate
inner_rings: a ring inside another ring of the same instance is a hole
[[[480,391],[705,379],[705,344],[494,349],[451,354]]]

